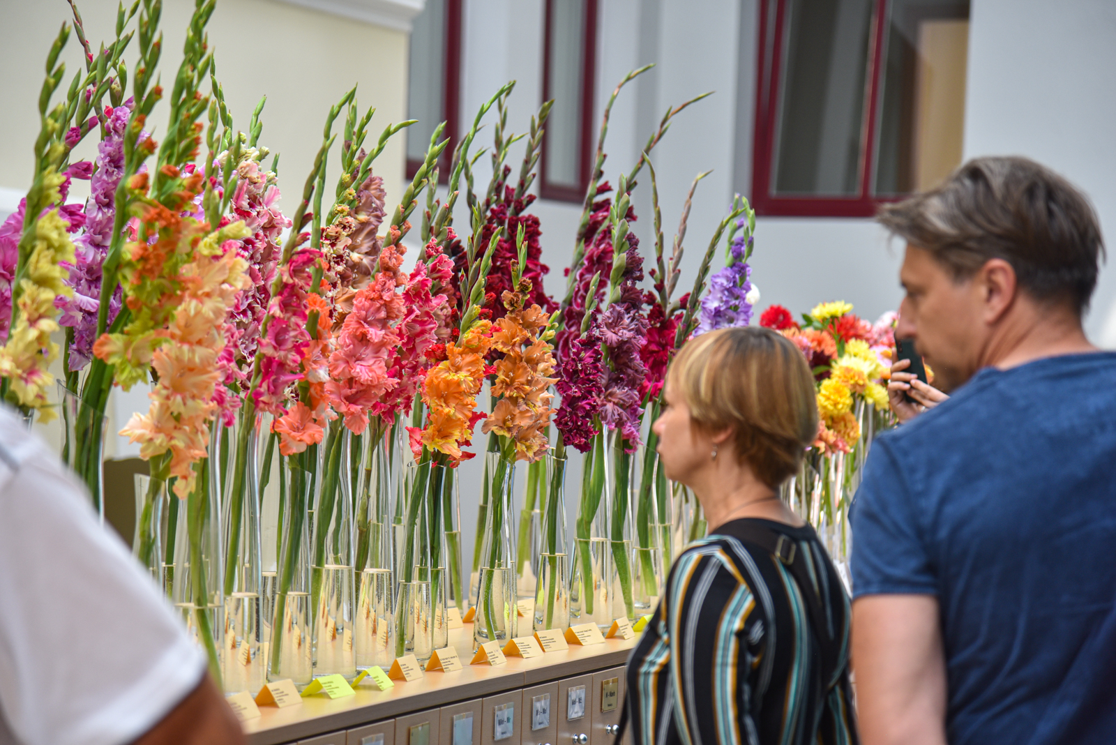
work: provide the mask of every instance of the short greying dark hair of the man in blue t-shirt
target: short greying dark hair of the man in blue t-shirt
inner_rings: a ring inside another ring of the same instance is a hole
[[[1105,253],[1088,197],[1024,157],[969,161],[940,186],[881,206],[876,220],[956,279],[1003,259],[1021,290],[1071,302],[1078,313],[1089,306]]]

